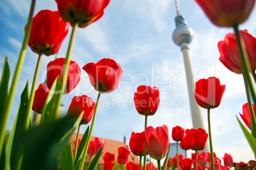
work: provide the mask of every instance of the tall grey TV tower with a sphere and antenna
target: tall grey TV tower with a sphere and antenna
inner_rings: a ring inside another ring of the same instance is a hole
[[[189,47],[188,47],[188,44],[193,39],[194,31],[187,26],[187,23],[184,20],[185,17],[183,15],[180,15],[180,10],[178,7],[177,0],[175,0],[175,5],[176,5],[177,15],[174,18],[176,23],[176,29],[173,31],[173,41],[175,42],[176,45],[181,47],[181,51],[184,58],[193,128],[196,128],[196,129],[204,128],[201,108],[196,102],[194,91],[193,91],[195,89],[195,83],[193,81],[194,74],[193,74],[192,65],[190,62]],[[207,152],[210,152],[208,142],[206,143],[204,150]]]

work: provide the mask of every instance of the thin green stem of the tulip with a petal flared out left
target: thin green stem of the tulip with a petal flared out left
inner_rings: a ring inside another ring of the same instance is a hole
[[[94,122],[95,122],[95,118],[96,118],[97,107],[98,107],[98,104],[99,104],[99,98],[100,97],[101,97],[101,92],[99,92],[99,95],[97,97],[96,107],[95,107],[95,110],[94,110],[94,116],[92,117],[92,125],[91,125],[90,131],[89,131],[89,136],[87,138],[86,145],[85,145],[85,151],[83,152],[83,157],[82,157],[82,162],[81,162],[80,170],[83,169],[83,166],[85,164],[85,157],[87,155],[87,151],[88,151],[88,147],[89,147],[89,143],[90,143],[90,137],[92,136],[92,129],[94,129]]]

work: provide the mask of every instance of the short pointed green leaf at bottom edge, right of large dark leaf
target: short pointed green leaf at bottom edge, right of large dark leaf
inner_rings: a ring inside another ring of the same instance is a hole
[[[72,156],[72,150],[71,150],[71,144],[70,141],[62,151],[62,157],[61,157],[61,170],[73,170],[73,156]]]

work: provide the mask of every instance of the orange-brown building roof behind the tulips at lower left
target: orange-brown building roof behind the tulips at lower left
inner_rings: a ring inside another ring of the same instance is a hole
[[[79,134],[79,138],[83,138],[83,134]],[[92,136],[90,138],[90,140],[94,140],[94,138],[95,138],[95,136]],[[100,138],[100,137],[99,137],[99,139],[103,140],[103,138]],[[70,140],[71,140],[71,147],[73,149],[73,148],[75,148],[73,141],[76,140],[76,133],[73,133]],[[118,157],[118,148],[119,147],[127,147],[127,145],[125,144],[124,141],[115,141],[115,140],[109,140],[106,138],[104,138],[104,140],[106,141],[106,150],[104,153],[110,152],[111,154],[115,154],[115,161],[116,161],[117,157]],[[104,154],[103,154],[103,156],[104,156]],[[103,163],[104,163],[103,156],[99,159],[100,165],[103,165]],[[94,156],[90,159],[90,161],[92,161],[93,159],[94,159]],[[88,156],[86,157],[85,162],[89,162]],[[136,164],[139,164],[139,158],[130,152],[127,162],[134,162]]]

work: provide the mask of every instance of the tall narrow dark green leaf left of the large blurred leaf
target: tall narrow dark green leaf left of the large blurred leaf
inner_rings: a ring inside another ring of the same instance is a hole
[[[13,145],[11,147],[11,157],[10,157],[10,165],[11,169],[20,169],[22,163],[22,145],[20,140],[22,138],[22,134],[24,133],[25,128],[25,114],[27,110],[27,106],[29,103],[29,81],[20,96],[20,107],[17,113],[17,122],[16,125],[13,124],[14,136],[13,136]],[[15,128],[14,128],[15,127]]]

